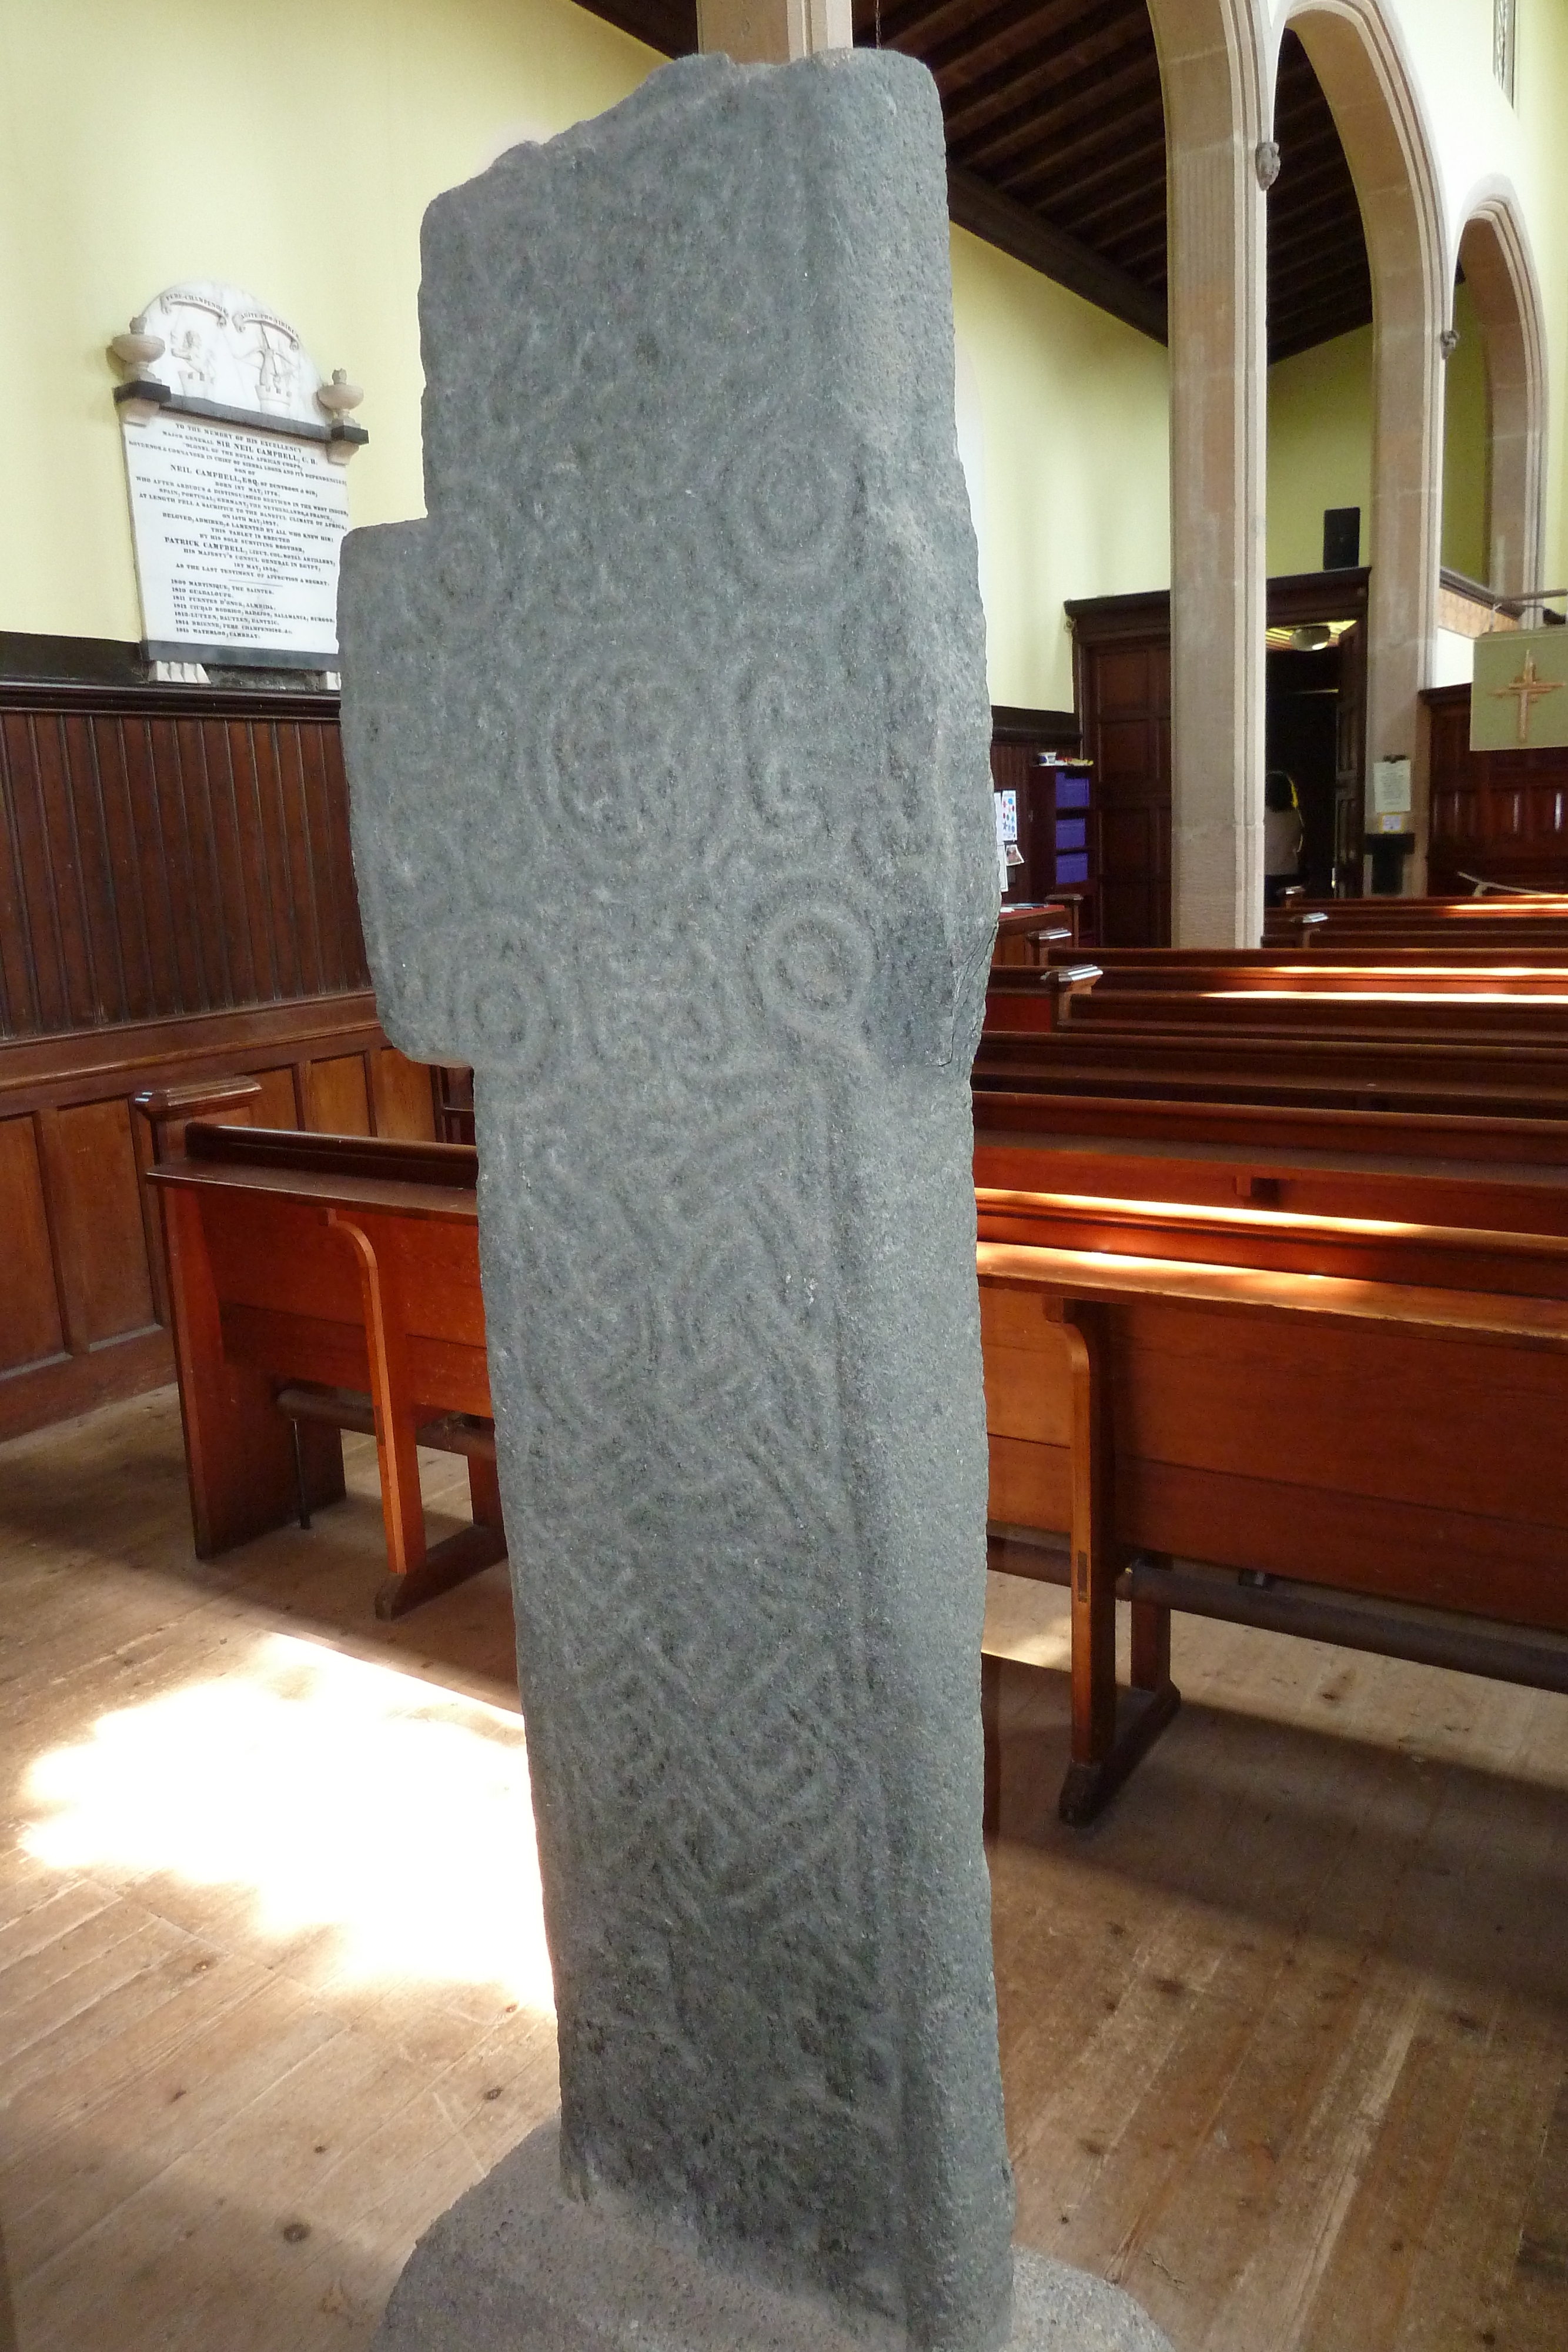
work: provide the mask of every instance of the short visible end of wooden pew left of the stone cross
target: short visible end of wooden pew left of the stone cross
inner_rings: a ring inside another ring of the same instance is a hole
[[[369,1425],[390,1569],[376,1613],[501,1559],[473,1148],[226,1127],[167,1094],[139,1108],[165,1152],[148,1183],[197,1555],[336,1501],[339,1432]],[[435,1545],[418,1444],[468,1456],[473,1524]]]

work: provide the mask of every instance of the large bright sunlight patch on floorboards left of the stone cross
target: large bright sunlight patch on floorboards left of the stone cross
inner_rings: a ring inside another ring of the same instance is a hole
[[[24,1846],[54,1870],[254,1889],[254,1929],[336,1931],[346,1978],[503,1985],[552,2013],[522,1724],[317,1649],[103,1715],[38,1757]]]

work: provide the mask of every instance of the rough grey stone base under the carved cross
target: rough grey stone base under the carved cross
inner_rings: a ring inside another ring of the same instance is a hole
[[[741,2277],[602,2204],[567,2197],[543,2124],[425,2230],[374,2352],[903,2352],[818,2296]],[[1006,2352],[1171,2352],[1105,2279],[1013,2256]]]

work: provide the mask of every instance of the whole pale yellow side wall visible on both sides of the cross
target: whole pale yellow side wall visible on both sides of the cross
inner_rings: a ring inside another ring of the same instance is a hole
[[[0,628],[139,637],[103,346],[179,278],[247,287],[364,383],[355,522],[423,508],[418,221],[508,134],[661,59],[571,0],[0,0]],[[992,696],[1070,706],[1063,600],[1168,579],[1166,355],[954,230]]]

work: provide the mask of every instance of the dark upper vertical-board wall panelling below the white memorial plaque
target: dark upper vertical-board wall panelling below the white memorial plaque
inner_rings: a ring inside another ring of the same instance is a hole
[[[0,1035],[364,988],[336,706],[0,687]]]

